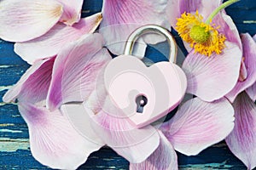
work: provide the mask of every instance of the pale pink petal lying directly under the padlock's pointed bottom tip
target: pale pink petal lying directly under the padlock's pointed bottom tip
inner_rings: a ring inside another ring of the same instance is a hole
[[[131,163],[145,161],[160,144],[159,134],[154,127],[137,129],[109,98],[102,105],[102,111],[87,112],[91,116],[91,127],[104,143]]]

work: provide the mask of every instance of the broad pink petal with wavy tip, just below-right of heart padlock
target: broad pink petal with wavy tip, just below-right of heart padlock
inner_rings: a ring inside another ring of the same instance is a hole
[[[190,99],[160,128],[174,149],[194,156],[223,140],[234,127],[234,109],[227,99],[207,103]]]

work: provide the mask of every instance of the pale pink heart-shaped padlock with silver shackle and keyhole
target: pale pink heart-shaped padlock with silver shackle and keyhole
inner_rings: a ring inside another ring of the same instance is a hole
[[[176,60],[176,43],[169,31],[160,26],[142,26],[129,37],[125,54],[112,59],[104,72],[110,99],[136,127],[144,127],[172,111],[183,99],[187,79],[183,70],[167,61],[147,67],[130,55],[137,37],[147,32],[166,36],[170,60]]]

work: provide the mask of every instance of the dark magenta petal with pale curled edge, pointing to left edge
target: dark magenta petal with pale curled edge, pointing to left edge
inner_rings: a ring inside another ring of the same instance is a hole
[[[19,101],[37,103],[46,99],[54,62],[55,57],[38,60],[26,71],[20,81],[9,89],[3,100],[11,102],[19,99]]]

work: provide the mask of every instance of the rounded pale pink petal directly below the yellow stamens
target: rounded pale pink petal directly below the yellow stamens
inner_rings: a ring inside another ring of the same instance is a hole
[[[223,54],[206,57],[191,51],[183,62],[188,78],[187,92],[205,101],[222,98],[235,87],[241,65],[241,50],[226,42]]]

